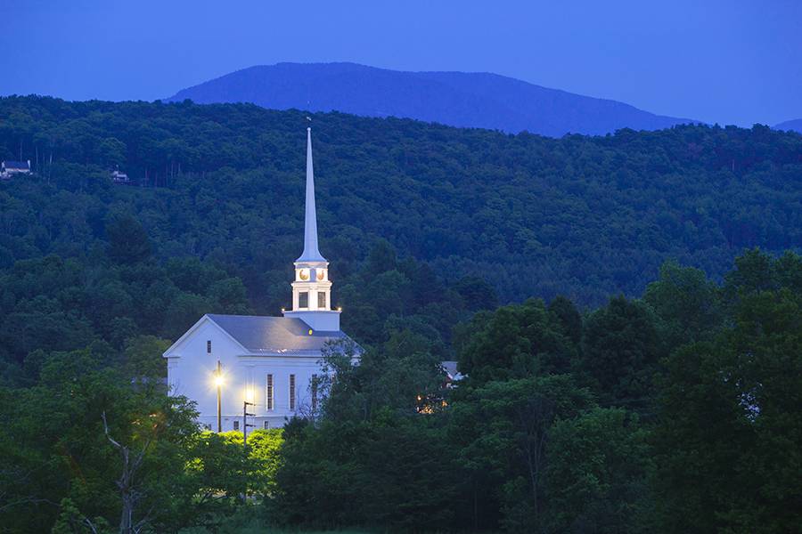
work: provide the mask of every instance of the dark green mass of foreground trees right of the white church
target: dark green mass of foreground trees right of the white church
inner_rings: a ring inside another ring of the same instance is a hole
[[[400,331],[332,354],[321,421],[285,428],[274,514],[310,527],[790,532],[802,527],[802,257],[717,285],[666,263],[642,298],[479,312],[443,388]],[[270,504],[268,504],[270,506]]]

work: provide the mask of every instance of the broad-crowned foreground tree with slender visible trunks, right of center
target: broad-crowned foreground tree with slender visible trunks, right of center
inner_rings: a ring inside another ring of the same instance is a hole
[[[472,487],[474,526],[492,528],[499,521],[506,530],[543,529],[552,425],[592,407],[591,393],[570,376],[517,378],[461,389],[451,406],[451,436]],[[482,488],[494,490],[479,495]]]

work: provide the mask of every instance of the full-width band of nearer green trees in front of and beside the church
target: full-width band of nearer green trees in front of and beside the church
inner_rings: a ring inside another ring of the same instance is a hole
[[[641,298],[588,312],[562,296],[476,312],[454,328],[456,384],[419,325],[387,334],[358,365],[328,347],[320,413],[245,449],[166,394],[155,336],[37,351],[0,387],[4,528],[802,525],[799,255],[749,251],[721,284],[666,263]]]

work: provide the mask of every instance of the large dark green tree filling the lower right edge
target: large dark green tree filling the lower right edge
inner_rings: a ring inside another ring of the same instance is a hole
[[[667,531],[802,525],[802,301],[747,287],[732,327],[667,360],[655,436]]]

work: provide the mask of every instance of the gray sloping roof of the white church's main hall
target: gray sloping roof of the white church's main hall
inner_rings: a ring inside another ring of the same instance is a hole
[[[250,352],[319,352],[328,341],[348,339],[341,330],[313,331],[309,336],[307,323],[294,317],[212,313],[208,317]]]

